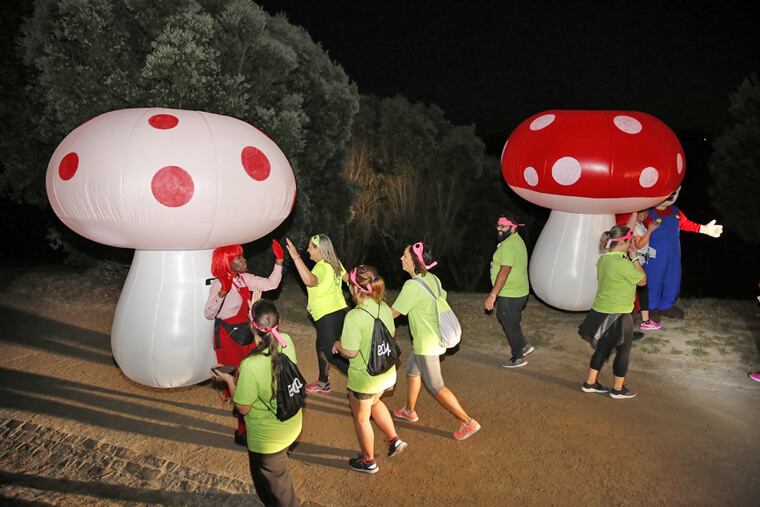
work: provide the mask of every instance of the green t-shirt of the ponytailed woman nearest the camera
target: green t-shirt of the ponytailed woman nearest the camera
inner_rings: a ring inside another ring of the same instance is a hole
[[[287,347],[281,350],[291,361],[296,362],[296,348],[293,340],[281,334]],[[268,351],[266,351],[268,352]],[[245,429],[248,434],[248,449],[260,454],[274,454],[287,448],[301,433],[303,411],[287,421],[277,419],[277,397],[270,403],[272,396],[272,358],[264,354],[248,356],[240,363],[240,377],[232,401],[238,405],[251,405],[251,411],[245,416]],[[259,399],[259,397],[261,399]],[[264,400],[269,407],[261,401]]]

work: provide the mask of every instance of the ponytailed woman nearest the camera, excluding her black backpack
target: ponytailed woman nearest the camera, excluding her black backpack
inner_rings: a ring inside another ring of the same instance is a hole
[[[256,301],[250,316],[255,346],[240,363],[237,385],[229,373],[212,369],[211,377],[227,384],[235,408],[245,418],[248,463],[256,494],[264,505],[300,505],[288,471],[287,449],[301,433],[303,411],[298,410],[286,421],[275,415],[275,368],[281,355],[295,363],[296,348],[290,336],[278,331],[280,315],[274,303]]]

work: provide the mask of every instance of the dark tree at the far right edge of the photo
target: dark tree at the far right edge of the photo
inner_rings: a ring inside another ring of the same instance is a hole
[[[742,239],[760,242],[760,80],[745,79],[731,94],[729,112],[736,120],[715,141],[709,168],[710,197],[721,221]]]

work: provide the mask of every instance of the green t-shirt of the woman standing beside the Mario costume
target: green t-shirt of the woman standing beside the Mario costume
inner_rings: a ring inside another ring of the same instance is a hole
[[[599,288],[594,304],[599,313],[630,313],[636,299],[636,284],[644,273],[636,269],[625,252],[607,252],[596,267]]]

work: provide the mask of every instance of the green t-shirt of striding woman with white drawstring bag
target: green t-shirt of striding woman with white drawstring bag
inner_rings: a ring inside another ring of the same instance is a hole
[[[438,294],[441,281],[428,272],[422,276],[420,273],[414,276],[422,280],[430,287],[433,294]],[[438,282],[436,286],[435,282]],[[441,294],[446,298],[446,291],[441,287]],[[418,356],[440,356],[446,349],[441,346],[441,334],[438,330],[438,312],[435,309],[435,300],[420,286],[419,282],[407,280],[401,288],[393,309],[402,315],[409,316],[409,331],[412,333],[412,348]]]

